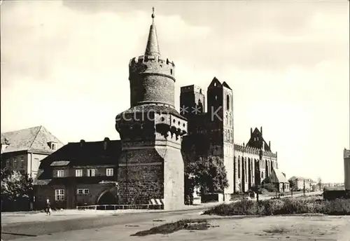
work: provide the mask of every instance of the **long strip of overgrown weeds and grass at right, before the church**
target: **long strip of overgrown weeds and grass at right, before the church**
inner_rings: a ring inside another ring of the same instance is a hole
[[[323,200],[320,197],[281,198],[275,200],[241,200],[221,204],[204,212],[221,216],[280,214],[350,215],[350,199]]]

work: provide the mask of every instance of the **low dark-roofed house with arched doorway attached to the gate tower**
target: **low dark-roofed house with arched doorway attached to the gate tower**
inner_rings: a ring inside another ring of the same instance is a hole
[[[34,180],[36,208],[118,203],[120,141],[69,143],[43,159]]]

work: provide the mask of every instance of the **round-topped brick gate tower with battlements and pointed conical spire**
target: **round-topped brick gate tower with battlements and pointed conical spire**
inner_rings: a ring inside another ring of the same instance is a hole
[[[184,204],[181,137],[187,121],[174,106],[175,65],[160,56],[154,18],[153,8],[146,52],[130,60],[130,109],[116,116],[119,202],[160,199],[164,209],[177,209]]]

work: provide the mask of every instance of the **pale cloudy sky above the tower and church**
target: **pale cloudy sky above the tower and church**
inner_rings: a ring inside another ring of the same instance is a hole
[[[152,7],[179,90],[234,92],[235,143],[250,128],[287,177],[344,181],[349,149],[349,1],[3,1],[1,132],[43,125],[62,142],[119,139],[128,64]]]

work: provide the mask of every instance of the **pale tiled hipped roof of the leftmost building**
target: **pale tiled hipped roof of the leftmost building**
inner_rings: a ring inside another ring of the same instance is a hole
[[[1,133],[1,143],[5,142],[5,139],[8,140],[9,145],[3,150],[3,153],[14,151],[40,151],[52,153],[53,150],[49,146],[50,142],[56,142],[57,149],[60,146],[63,146],[63,143],[42,125],[34,128]]]

